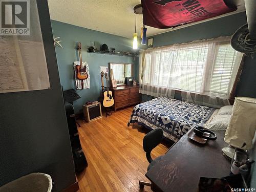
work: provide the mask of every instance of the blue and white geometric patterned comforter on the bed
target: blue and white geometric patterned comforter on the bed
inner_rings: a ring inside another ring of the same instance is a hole
[[[203,125],[215,111],[215,108],[190,102],[158,97],[137,104],[129,120],[148,129],[161,127],[164,137],[177,141],[196,125]]]

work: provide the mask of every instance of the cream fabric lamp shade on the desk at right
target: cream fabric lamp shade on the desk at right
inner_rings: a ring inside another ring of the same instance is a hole
[[[256,99],[236,97],[232,115],[224,141],[228,144],[249,150],[256,130]]]

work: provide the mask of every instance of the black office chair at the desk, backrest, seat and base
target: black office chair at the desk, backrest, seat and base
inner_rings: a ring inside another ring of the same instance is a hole
[[[152,159],[151,151],[160,144],[163,139],[163,130],[157,128],[150,133],[147,133],[143,138],[143,150],[146,152],[146,159],[150,163],[147,167],[147,170],[150,170],[162,157],[159,156],[156,159]],[[151,186],[151,183],[145,181],[139,181],[140,188],[143,188],[144,185]]]

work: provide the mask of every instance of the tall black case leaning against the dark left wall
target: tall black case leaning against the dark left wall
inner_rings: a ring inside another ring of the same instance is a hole
[[[84,155],[77,131],[75,113],[73,105],[65,102],[66,116],[69,126],[69,136],[72,147],[73,159],[75,164],[76,172],[81,172],[88,166],[86,156]]]

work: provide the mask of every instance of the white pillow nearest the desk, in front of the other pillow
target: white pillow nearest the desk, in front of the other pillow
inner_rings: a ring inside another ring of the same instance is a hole
[[[209,123],[205,123],[204,127],[213,130],[226,130],[230,121],[231,115],[215,115]]]

